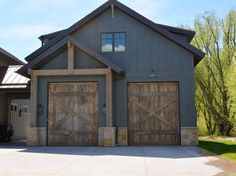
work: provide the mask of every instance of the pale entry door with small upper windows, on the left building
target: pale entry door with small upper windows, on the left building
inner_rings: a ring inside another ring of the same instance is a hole
[[[30,116],[29,99],[12,99],[10,106],[10,121],[13,126],[13,140],[25,140]]]

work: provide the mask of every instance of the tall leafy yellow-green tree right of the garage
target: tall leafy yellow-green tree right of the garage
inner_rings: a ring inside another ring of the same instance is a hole
[[[217,127],[221,135],[230,135],[235,113],[227,77],[236,56],[236,11],[224,20],[207,12],[195,20],[194,28],[193,45],[206,53],[195,69],[197,115],[205,118],[209,134]]]

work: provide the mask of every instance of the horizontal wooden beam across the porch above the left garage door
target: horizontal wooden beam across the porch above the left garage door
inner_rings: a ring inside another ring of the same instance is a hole
[[[66,75],[106,75],[110,72],[107,68],[97,69],[67,69],[59,70],[31,70],[33,76],[66,76]]]

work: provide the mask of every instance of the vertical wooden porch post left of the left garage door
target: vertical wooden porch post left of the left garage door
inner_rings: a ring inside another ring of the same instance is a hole
[[[30,111],[30,127],[37,126],[37,96],[38,96],[38,77],[31,76],[31,111]]]

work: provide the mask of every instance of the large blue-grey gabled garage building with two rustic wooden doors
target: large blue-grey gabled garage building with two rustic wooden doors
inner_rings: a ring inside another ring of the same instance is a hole
[[[31,78],[28,145],[195,145],[195,32],[109,0],[40,37],[18,73]]]

